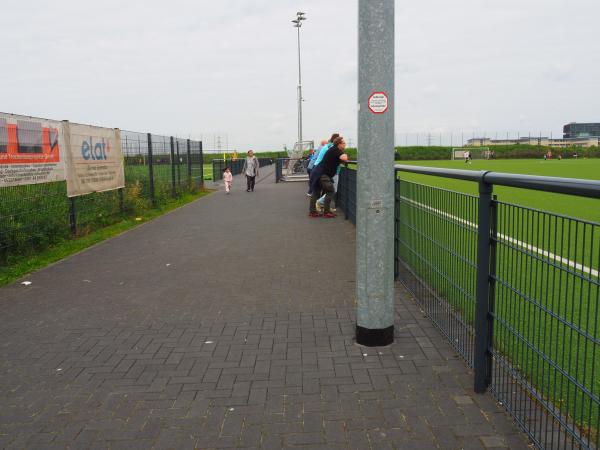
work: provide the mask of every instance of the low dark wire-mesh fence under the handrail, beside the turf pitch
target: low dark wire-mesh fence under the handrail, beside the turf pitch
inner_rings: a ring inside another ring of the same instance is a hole
[[[353,220],[351,172],[340,174],[338,205]],[[479,196],[403,172],[470,180]],[[600,198],[600,182],[402,165],[396,174],[396,279],[475,369],[475,390],[489,389],[538,448],[597,448],[600,224],[498,201],[493,186]]]

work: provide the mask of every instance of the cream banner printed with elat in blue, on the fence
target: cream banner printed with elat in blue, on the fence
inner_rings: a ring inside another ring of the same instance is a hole
[[[119,130],[65,123],[67,195],[125,187]]]

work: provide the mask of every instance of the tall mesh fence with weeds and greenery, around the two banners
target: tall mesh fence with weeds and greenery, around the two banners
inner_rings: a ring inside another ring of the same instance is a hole
[[[65,181],[0,188],[0,264],[204,186],[200,141],[121,131],[121,147],[125,188],[70,198]]]

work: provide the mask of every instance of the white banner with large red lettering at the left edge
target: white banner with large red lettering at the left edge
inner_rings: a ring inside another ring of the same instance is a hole
[[[0,188],[65,179],[62,122],[0,113]]]

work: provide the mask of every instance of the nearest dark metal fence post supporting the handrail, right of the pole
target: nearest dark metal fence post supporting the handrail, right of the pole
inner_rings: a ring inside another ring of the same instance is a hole
[[[479,217],[477,226],[477,289],[475,293],[475,392],[484,393],[491,381],[490,340],[490,256],[492,233],[493,185],[479,182]],[[495,228],[495,227],[494,227]]]

